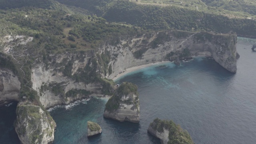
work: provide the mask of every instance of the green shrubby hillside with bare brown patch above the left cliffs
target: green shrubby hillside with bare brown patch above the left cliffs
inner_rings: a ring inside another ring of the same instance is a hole
[[[16,45],[12,50],[12,54],[19,61],[6,57],[1,59],[0,67],[10,68],[19,77],[21,81],[20,98],[27,96],[35,103],[39,103],[37,93],[30,90],[31,68],[37,62],[44,62],[47,69],[50,64],[53,64],[50,54],[60,54],[63,52],[72,52],[74,54],[90,53],[88,64],[84,69],[79,69],[76,74],[72,75],[72,62],[64,61],[60,72],[64,76],[72,78],[77,82],[98,82],[102,84],[102,93],[111,94],[112,81],[102,79],[100,73],[111,73],[108,69],[110,56],[108,52],[96,54],[98,46],[108,42],[112,45],[120,42],[120,38],[125,36],[136,36],[144,30],[140,28],[120,23],[109,23],[105,19],[97,17],[87,10],[67,7],[62,4],[56,4],[56,9],[42,9],[35,7],[23,7],[8,10],[0,10],[0,50],[3,50],[7,35],[25,35],[32,36],[34,39],[26,46]],[[18,42],[19,39],[14,39],[11,42]],[[2,55],[5,56],[4,54]],[[10,62],[13,62],[10,65]],[[8,63],[9,62],[9,63]],[[56,66],[58,66],[56,64]],[[20,69],[22,67],[22,70]],[[97,71],[97,72],[96,72]],[[63,90],[58,84],[49,88],[54,93],[61,93]],[[88,92],[70,91],[66,96],[76,96],[76,94],[88,95]],[[64,94],[65,95],[65,94]]]

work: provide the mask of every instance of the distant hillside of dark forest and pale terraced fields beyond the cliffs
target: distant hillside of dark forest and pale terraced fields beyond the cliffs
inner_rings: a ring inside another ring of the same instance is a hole
[[[255,15],[212,7],[201,0],[58,0],[65,4],[88,8],[110,22],[126,22],[144,29],[177,29],[192,32],[237,32],[256,37]],[[161,3],[161,4],[160,4]],[[93,9],[92,9],[93,7]],[[198,9],[197,9],[198,8]]]

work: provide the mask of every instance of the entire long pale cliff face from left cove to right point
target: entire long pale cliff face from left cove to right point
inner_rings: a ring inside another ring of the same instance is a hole
[[[126,38],[115,46],[106,43],[98,51],[52,54],[38,58],[34,64],[32,88],[49,108],[88,96],[112,94],[113,88],[99,77],[112,79],[126,68],[191,56],[212,57],[236,72],[236,35],[169,30]]]

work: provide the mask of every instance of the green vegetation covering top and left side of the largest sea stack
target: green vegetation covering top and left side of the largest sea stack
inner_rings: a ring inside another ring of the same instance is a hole
[[[122,96],[128,96],[135,94],[138,98],[138,87],[130,82],[123,82],[114,92],[113,96],[106,103],[105,110],[110,112],[118,109]],[[126,100],[126,103],[131,103],[133,98]]]

